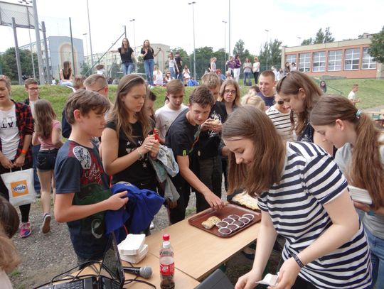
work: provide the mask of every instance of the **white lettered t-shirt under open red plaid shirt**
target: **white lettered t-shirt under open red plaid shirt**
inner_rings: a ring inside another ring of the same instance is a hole
[[[16,125],[16,106],[12,106],[9,111],[0,109],[0,138],[1,153],[9,160],[14,160],[20,138]]]

